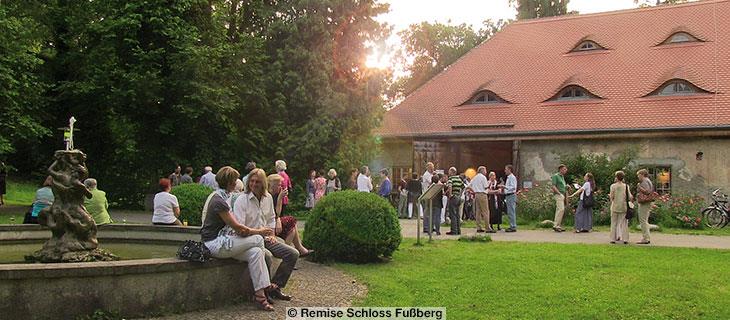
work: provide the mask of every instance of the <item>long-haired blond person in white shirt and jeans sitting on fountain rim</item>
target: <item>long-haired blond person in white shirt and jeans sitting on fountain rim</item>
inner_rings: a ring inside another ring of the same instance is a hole
[[[238,223],[249,228],[276,228],[274,200],[267,191],[267,183],[266,173],[263,170],[253,169],[249,173],[246,192],[238,196],[232,206],[233,215]],[[271,279],[276,288],[272,288],[267,292],[274,299],[289,301],[292,297],[282,293],[281,289],[286,286],[291,273],[294,271],[294,266],[299,259],[299,251],[285,244],[284,240],[276,236],[265,237],[264,247],[274,257],[282,260]]]

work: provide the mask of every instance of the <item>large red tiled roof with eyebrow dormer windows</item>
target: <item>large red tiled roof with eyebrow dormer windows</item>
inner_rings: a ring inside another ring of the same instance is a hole
[[[677,31],[701,43],[661,45]],[[571,53],[581,40],[608,50]],[[680,78],[714,92],[647,97]],[[546,100],[567,85],[604,98]],[[465,105],[480,90],[511,104]],[[386,112],[384,137],[730,128],[730,0],[516,22]]]

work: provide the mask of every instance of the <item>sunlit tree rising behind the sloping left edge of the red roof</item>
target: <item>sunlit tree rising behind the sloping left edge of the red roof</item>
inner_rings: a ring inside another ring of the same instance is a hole
[[[406,76],[395,79],[388,88],[391,101],[398,101],[443,71],[478,44],[492,37],[508,21],[484,21],[482,28],[421,22],[398,33],[403,49],[395,55],[394,65],[404,66]]]

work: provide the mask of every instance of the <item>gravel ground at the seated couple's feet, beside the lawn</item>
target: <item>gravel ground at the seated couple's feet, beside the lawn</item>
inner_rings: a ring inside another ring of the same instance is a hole
[[[340,270],[325,265],[300,261],[297,263],[299,270],[294,271],[286,290],[287,294],[294,296],[292,301],[276,300],[274,312],[265,312],[256,309],[252,302],[227,306],[213,310],[203,310],[185,314],[170,315],[159,320],[264,320],[264,319],[285,319],[287,307],[347,307],[352,304],[353,299],[365,297],[367,287],[355,281],[349,275]]]

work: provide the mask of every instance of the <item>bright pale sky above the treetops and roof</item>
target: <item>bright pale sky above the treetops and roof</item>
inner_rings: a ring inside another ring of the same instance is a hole
[[[514,19],[516,10],[508,0],[381,0],[390,4],[390,12],[377,18],[394,27],[394,34],[388,45],[398,46],[398,31],[421,21],[451,24],[471,24],[479,29],[486,19]],[[636,8],[634,0],[571,0],[568,9],[579,13],[595,13]],[[367,64],[374,68],[387,68],[390,63],[388,52],[373,52]]]

